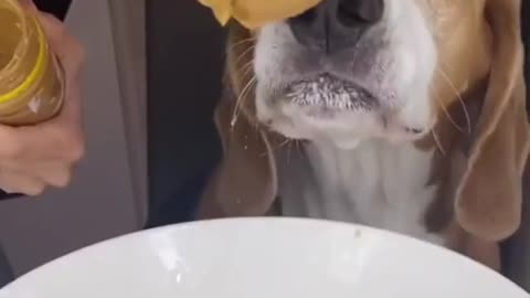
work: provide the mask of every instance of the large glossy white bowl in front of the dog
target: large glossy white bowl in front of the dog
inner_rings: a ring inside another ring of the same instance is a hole
[[[43,266],[0,298],[519,298],[452,252],[363,226],[239,219],[105,242]]]

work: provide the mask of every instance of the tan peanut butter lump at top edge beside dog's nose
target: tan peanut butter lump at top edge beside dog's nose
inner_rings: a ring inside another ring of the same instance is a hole
[[[211,8],[218,21],[225,25],[230,19],[237,20],[248,29],[268,22],[295,17],[315,7],[321,0],[199,0]]]

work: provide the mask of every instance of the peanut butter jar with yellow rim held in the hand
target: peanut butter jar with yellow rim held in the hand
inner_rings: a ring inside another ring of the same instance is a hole
[[[49,120],[63,97],[62,72],[38,19],[18,0],[0,0],[0,124]]]

